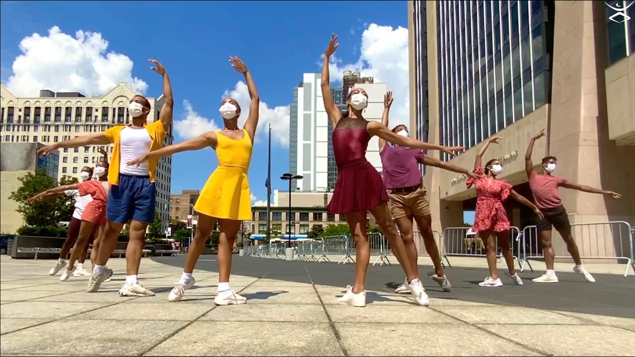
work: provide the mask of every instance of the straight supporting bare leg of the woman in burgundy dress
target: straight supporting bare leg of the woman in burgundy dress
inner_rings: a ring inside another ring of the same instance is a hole
[[[364,291],[366,271],[370,262],[370,243],[366,235],[366,212],[352,212],[346,214],[346,222],[349,224],[351,234],[355,240],[355,283],[353,293]]]

